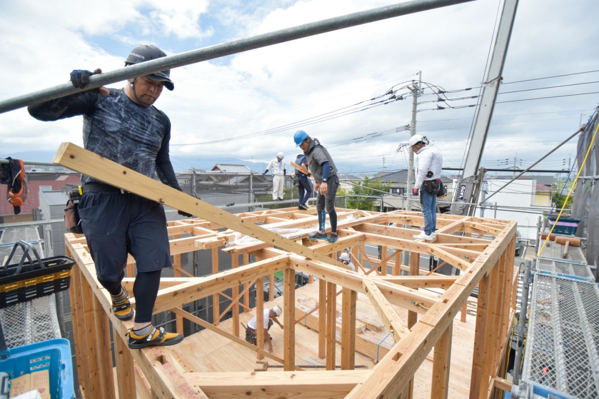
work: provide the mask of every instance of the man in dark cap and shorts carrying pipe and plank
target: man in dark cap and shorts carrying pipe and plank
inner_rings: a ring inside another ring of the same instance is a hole
[[[166,56],[154,45],[138,45],[129,53],[125,66]],[[71,83],[84,89],[89,77],[101,72],[75,69]],[[43,121],[83,115],[86,150],[151,178],[157,174],[164,184],[181,190],[168,150],[171,122],[153,106],[163,87],[174,89],[170,71],[129,79],[120,90],[87,90],[31,105],[28,110],[32,117]],[[182,334],[167,333],[152,325],[162,269],[172,266],[164,207],[89,176],[81,176],[81,185],[83,197],[78,212],[98,282],[110,293],[117,319],[129,320],[135,313],[129,348],[181,342]],[[191,216],[182,211],[179,214]],[[133,255],[137,266],[133,285],[135,312],[122,286],[128,254]]]

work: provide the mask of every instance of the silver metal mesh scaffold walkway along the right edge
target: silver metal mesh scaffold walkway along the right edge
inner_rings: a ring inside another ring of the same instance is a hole
[[[599,288],[588,265],[538,259],[528,325],[520,397],[599,398]]]

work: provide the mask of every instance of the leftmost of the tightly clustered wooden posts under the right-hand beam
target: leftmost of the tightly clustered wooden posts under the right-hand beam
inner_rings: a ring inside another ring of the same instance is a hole
[[[470,399],[479,397],[480,378],[485,349],[485,327],[487,324],[488,302],[489,302],[489,284],[491,281],[488,276],[483,276],[479,282],[479,296],[476,309],[476,327],[474,329],[474,349],[472,352],[472,372],[470,373]],[[485,395],[486,397],[486,395]]]

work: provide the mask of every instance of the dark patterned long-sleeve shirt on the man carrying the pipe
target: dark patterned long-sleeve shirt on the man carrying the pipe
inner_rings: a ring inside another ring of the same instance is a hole
[[[169,157],[171,122],[155,106],[141,106],[123,90],[83,92],[28,107],[32,117],[53,121],[83,115],[83,146],[102,157],[181,190]],[[94,181],[81,176],[81,183]]]

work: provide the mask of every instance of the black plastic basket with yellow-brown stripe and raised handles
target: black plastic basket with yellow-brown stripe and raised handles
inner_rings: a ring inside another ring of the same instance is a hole
[[[23,248],[21,260],[10,264],[19,247]],[[30,251],[35,258],[31,257]],[[30,243],[19,241],[14,245],[7,263],[8,266],[0,267],[0,309],[68,290],[75,261],[66,256],[41,259]]]

